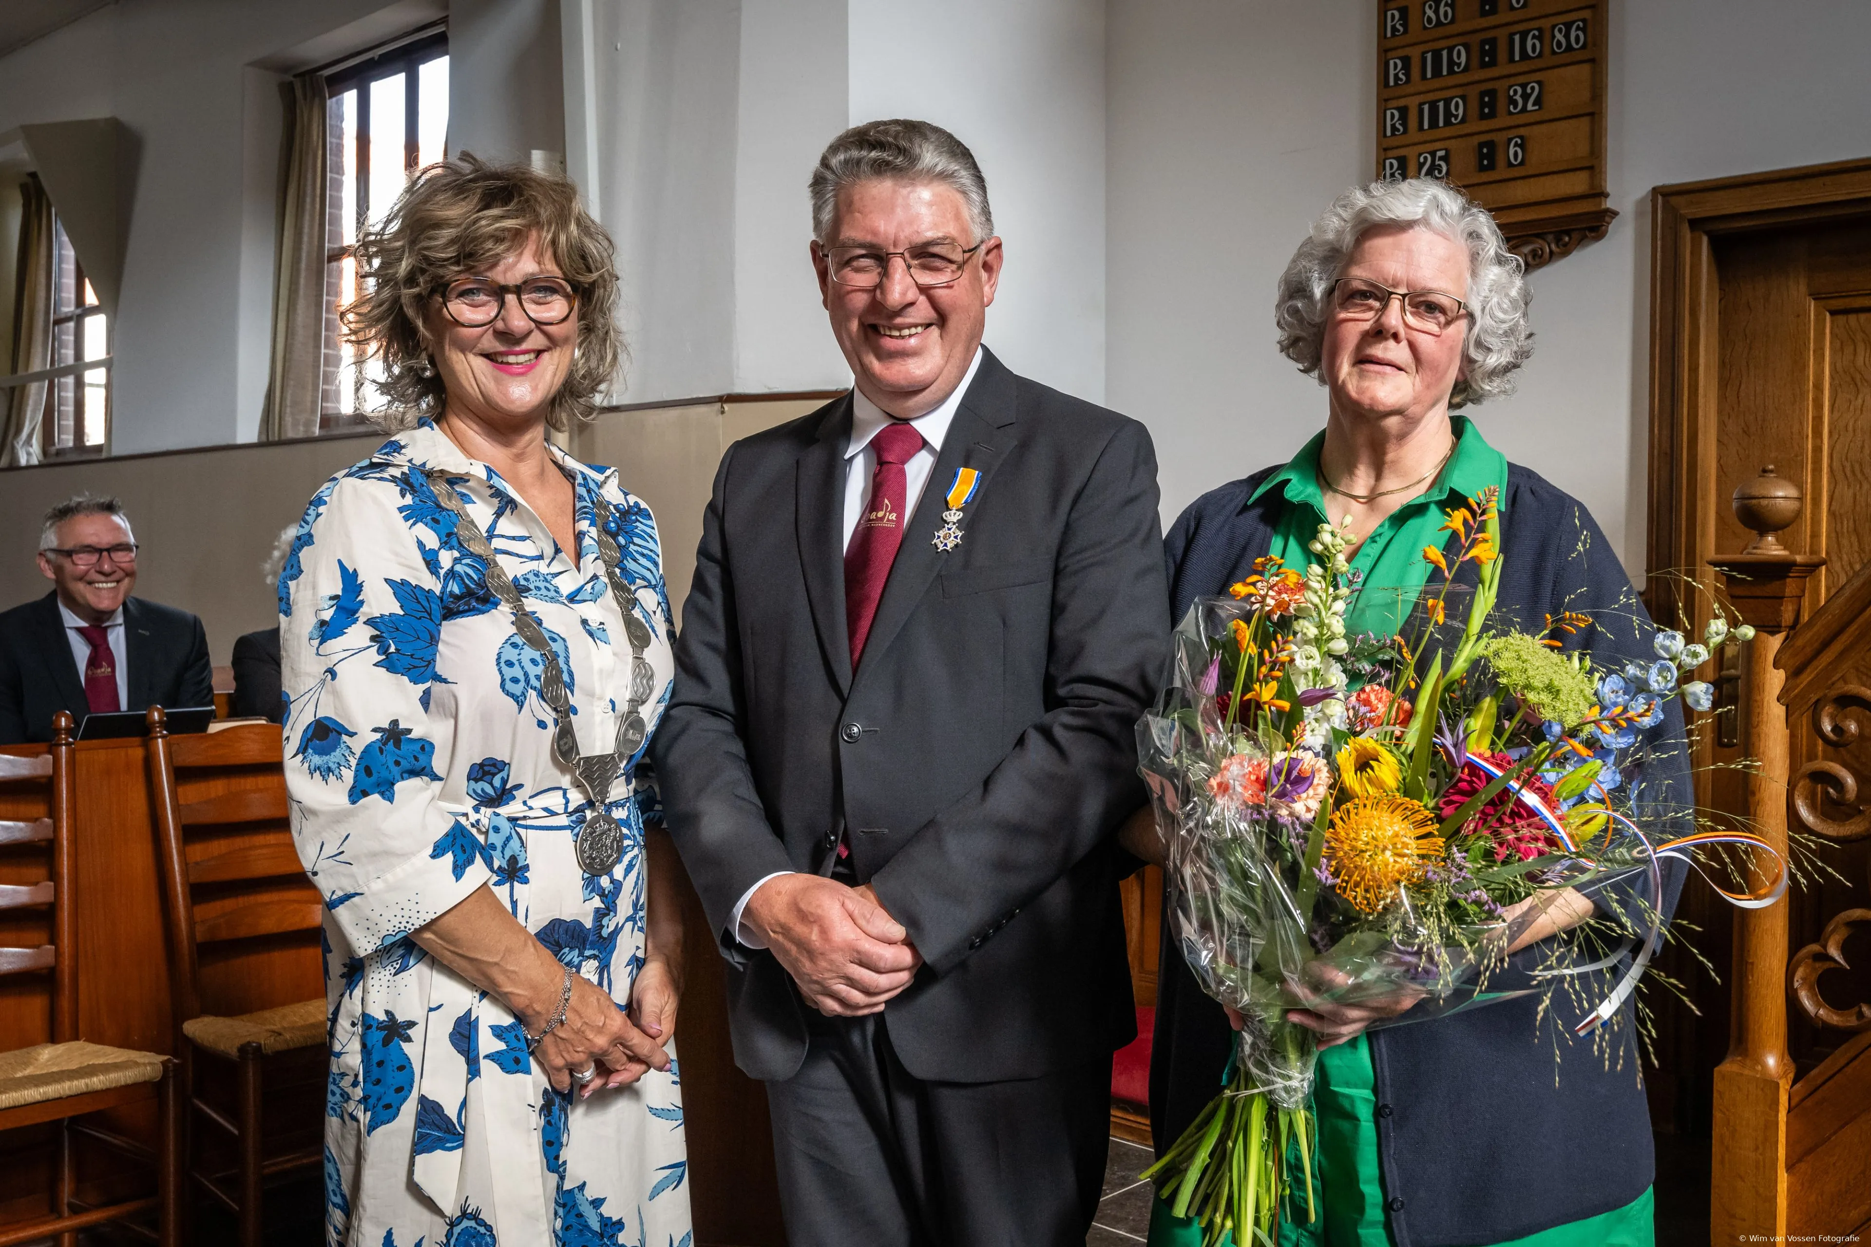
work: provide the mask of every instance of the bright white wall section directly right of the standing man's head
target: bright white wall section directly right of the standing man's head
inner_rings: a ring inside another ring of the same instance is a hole
[[[1007,247],[988,346],[1104,402],[1106,4],[849,0],[849,65],[851,123],[936,122],[988,179]]]

